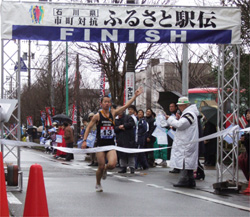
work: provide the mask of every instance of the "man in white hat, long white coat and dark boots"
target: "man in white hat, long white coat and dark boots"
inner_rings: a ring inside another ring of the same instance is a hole
[[[191,105],[187,97],[178,99],[178,108],[182,112],[179,119],[166,115],[167,124],[176,128],[174,136],[170,167],[181,170],[180,178],[174,187],[195,187],[193,170],[197,169],[199,139],[197,106]]]

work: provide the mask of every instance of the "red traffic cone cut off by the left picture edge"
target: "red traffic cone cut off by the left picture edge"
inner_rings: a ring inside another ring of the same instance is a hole
[[[10,216],[9,205],[8,205],[8,200],[7,200],[2,152],[0,152],[0,216],[4,216],[4,217]]]

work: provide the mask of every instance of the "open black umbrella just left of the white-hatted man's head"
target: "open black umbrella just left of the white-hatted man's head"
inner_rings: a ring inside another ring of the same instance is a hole
[[[162,106],[167,114],[170,114],[169,105],[171,103],[177,103],[179,97],[181,97],[181,94],[176,91],[159,92],[159,99],[157,103]]]

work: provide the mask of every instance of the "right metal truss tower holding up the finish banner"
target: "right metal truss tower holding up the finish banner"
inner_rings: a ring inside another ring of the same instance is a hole
[[[240,110],[240,46],[219,45],[218,66],[218,126],[225,129],[226,123],[239,125]],[[233,108],[229,114],[225,102],[230,102]],[[217,183],[216,190],[239,190],[239,132],[229,135],[232,147],[226,150],[223,137],[217,139]]]

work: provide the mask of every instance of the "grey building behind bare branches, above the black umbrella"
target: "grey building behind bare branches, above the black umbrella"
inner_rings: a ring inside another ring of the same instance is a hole
[[[135,74],[136,86],[144,87],[144,93],[136,99],[136,107],[143,111],[151,108],[156,113],[163,110],[157,103],[159,92],[182,93],[181,69],[181,64],[178,65],[178,63],[160,63],[159,59],[150,60],[145,70]],[[189,88],[210,86],[212,77],[209,64],[189,64]]]

